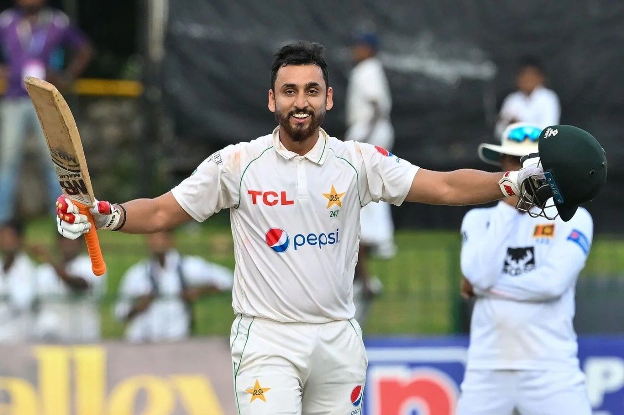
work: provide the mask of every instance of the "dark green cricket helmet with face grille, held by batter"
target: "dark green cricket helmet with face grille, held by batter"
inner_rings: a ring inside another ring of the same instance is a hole
[[[527,182],[531,188],[527,189],[528,193],[536,196],[533,204],[540,210],[539,216],[554,219],[547,213],[548,208],[554,206],[561,219],[567,222],[578,205],[592,200],[605,184],[605,150],[585,130],[572,125],[552,125],[542,130],[538,151],[544,176]],[[537,155],[529,157],[534,156]]]

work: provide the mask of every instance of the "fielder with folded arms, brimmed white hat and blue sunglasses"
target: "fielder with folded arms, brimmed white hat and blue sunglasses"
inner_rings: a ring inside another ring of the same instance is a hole
[[[537,153],[541,126],[515,123],[479,156],[502,169]],[[457,415],[590,415],[574,332],[574,292],[592,244],[582,207],[568,222],[531,217],[517,198],[467,212],[461,293],[475,297]]]

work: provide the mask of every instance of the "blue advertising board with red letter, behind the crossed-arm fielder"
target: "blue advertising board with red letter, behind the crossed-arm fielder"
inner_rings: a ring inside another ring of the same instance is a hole
[[[452,415],[467,345],[464,336],[366,341],[364,415]],[[594,414],[623,414],[624,337],[582,337],[578,355]]]

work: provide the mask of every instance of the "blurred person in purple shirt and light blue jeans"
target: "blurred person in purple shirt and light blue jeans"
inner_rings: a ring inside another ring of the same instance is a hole
[[[7,81],[0,108],[0,223],[13,214],[15,185],[24,143],[30,133],[36,135],[37,164],[45,178],[47,206],[54,206],[61,193],[39,120],[24,87],[24,77],[46,79],[59,89],[68,87],[92,55],[89,42],[69,24],[63,12],[46,7],[44,0],[17,0],[16,5],[0,14],[0,42],[6,63],[0,73]],[[51,71],[52,60],[64,45],[74,49],[74,59],[64,71]]]

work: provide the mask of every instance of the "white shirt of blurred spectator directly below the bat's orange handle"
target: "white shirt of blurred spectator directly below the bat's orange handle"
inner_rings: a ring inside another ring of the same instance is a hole
[[[40,300],[35,335],[44,341],[85,343],[100,338],[99,299],[106,276],[93,274],[88,255],[79,255],[65,265],[67,274],[84,279],[89,288],[73,290],[51,264],[39,265],[37,296]]]

